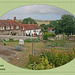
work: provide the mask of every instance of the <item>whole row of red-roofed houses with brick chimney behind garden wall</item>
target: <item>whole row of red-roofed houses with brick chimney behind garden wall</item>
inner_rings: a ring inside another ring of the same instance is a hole
[[[37,24],[22,24],[21,22],[16,22],[16,17],[14,20],[0,20],[0,35],[12,35],[15,33],[19,36],[26,35],[40,35],[41,28]]]

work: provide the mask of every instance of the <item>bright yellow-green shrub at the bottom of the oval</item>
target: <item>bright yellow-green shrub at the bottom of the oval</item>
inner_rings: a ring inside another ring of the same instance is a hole
[[[50,63],[49,64],[49,61],[47,58],[40,58],[40,63],[36,63],[36,62],[33,62],[33,64],[29,64],[28,65],[28,68],[30,69],[33,69],[33,70],[44,70],[44,69],[51,69],[51,68],[54,68],[55,66]]]

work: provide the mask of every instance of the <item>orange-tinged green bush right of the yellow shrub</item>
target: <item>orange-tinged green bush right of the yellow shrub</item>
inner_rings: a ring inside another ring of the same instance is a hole
[[[61,50],[51,50],[42,52],[43,56],[48,58],[49,63],[53,63],[55,67],[64,65],[75,58],[75,52],[72,50],[61,51]]]

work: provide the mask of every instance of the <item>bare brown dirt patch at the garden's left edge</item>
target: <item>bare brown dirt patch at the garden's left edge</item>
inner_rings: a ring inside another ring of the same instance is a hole
[[[15,47],[0,45],[0,57],[6,61],[15,58],[21,52],[15,51]]]

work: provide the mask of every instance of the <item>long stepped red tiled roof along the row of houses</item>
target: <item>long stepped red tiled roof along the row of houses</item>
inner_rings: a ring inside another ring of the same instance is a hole
[[[40,29],[37,24],[22,24],[21,22],[15,22],[14,20],[0,20],[0,26],[20,26],[24,27],[24,30]],[[22,29],[23,30],[23,29]]]

